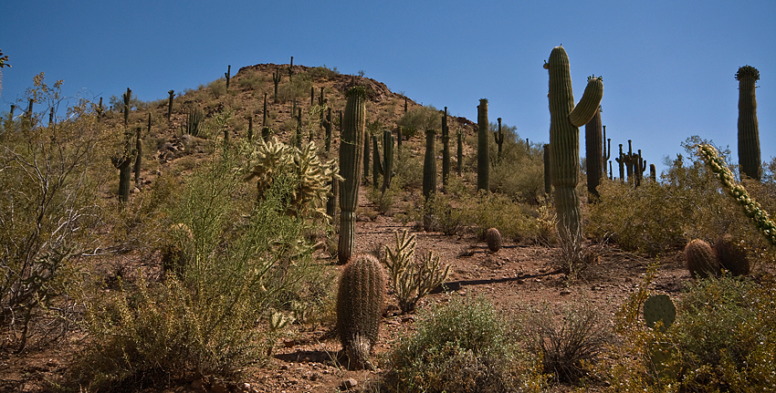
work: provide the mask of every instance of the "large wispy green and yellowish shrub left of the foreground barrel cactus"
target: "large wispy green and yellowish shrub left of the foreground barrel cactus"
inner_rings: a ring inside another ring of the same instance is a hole
[[[260,202],[246,201],[236,198],[247,185],[234,167],[229,154],[214,158],[171,206],[169,222],[190,233],[176,274],[89,303],[94,339],[74,367],[81,382],[119,389],[193,372],[228,377],[266,354],[257,320],[288,309],[319,274],[308,220],[286,213],[291,184],[275,181]]]

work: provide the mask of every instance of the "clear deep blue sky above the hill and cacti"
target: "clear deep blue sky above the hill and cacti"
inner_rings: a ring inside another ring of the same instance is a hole
[[[530,5],[524,5],[524,3]],[[776,156],[776,1],[3,1],[0,111],[33,76],[64,92],[142,100],[196,88],[232,66],[337,67],[451,114],[549,140],[552,47],[569,54],[576,100],[602,75],[603,124],[663,169],[690,135],[736,152],[738,67],[760,70],[762,160]],[[584,154],[582,129],[581,153]],[[616,166],[615,166],[616,168]],[[616,169],[615,169],[616,172]]]

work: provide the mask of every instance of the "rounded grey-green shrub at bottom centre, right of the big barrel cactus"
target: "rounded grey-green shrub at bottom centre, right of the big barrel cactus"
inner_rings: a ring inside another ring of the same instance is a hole
[[[454,296],[421,313],[392,346],[386,383],[403,392],[540,391],[544,377],[520,352],[514,330],[483,297]]]

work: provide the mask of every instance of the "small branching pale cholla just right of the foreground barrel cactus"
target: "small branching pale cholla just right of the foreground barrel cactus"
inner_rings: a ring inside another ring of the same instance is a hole
[[[385,246],[385,265],[391,276],[391,289],[402,313],[414,311],[417,302],[437,286],[445,283],[450,265],[443,268],[439,255],[431,250],[415,262],[415,235],[404,230],[394,233],[396,244]]]

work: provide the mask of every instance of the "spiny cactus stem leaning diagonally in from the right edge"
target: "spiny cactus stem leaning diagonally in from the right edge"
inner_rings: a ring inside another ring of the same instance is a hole
[[[758,231],[765,236],[771,245],[776,245],[776,224],[771,221],[768,212],[762,210],[760,203],[751,199],[746,189],[736,181],[728,164],[719,157],[717,149],[706,144],[698,145],[697,153],[706,162],[708,168],[714,172],[722,184],[722,188],[743,208],[744,213],[754,223]]]

